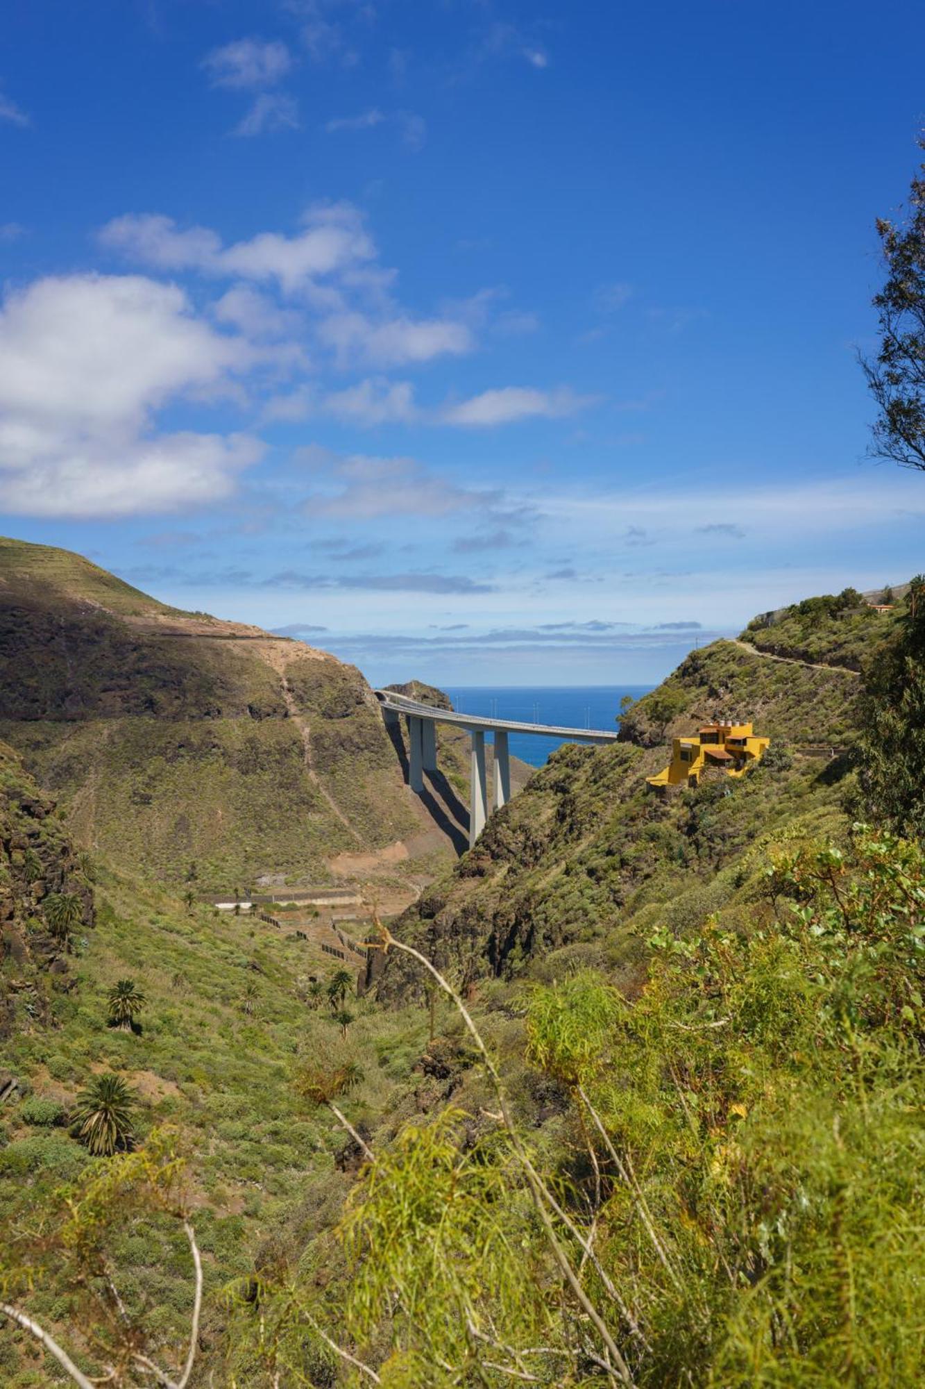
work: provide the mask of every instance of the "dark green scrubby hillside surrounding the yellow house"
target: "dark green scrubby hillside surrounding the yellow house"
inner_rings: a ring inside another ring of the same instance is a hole
[[[886,624],[861,621],[872,650]],[[619,745],[556,753],[451,876],[408,908],[403,938],[462,978],[542,971],[538,958],[565,946],[572,961],[608,960],[631,978],[657,920],[694,926],[719,907],[747,908],[769,846],[847,825],[840,749],[858,736],[861,681],[838,668],[842,636],[840,619],[826,618],[814,664],[738,642],[692,651],[628,711]],[[768,733],[767,761],[742,781],[719,774],[697,790],[650,790],[669,739],[721,715]],[[393,964],[383,997],[408,978]]]

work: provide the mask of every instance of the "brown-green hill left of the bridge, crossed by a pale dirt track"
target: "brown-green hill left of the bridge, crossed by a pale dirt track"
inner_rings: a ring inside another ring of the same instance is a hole
[[[0,736],[60,797],[79,845],[197,890],[426,878],[464,829],[458,795],[410,795],[354,667],[10,539]],[[442,771],[465,795],[458,740],[443,740]]]

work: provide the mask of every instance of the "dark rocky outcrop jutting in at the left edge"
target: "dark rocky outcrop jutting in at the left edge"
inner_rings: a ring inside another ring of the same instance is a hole
[[[93,893],[64,821],[0,743],[0,1038],[46,1022],[53,990],[69,988],[68,947],[50,908],[61,900],[69,933],[89,931]]]

